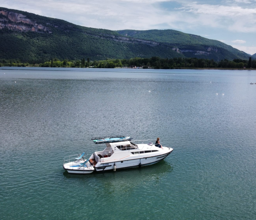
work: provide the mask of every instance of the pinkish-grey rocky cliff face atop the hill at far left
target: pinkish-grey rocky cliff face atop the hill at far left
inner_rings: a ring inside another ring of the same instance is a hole
[[[51,33],[49,28],[31,21],[23,14],[6,10],[1,10],[0,14],[3,15],[0,17],[0,29],[8,28],[14,31],[35,31]]]

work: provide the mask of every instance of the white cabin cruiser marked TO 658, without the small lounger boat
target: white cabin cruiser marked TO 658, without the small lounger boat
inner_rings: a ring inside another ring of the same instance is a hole
[[[100,138],[100,140],[109,137]],[[159,148],[153,144],[155,140],[138,140],[134,141],[130,137],[120,139],[120,136],[112,136],[117,138],[111,142],[106,141],[106,148],[102,151],[94,152],[89,161],[95,171],[116,170],[132,167],[148,166],[157,163],[166,158],[173,149],[162,146]],[[118,139],[119,138],[119,139]],[[102,141],[92,138],[95,144]]]

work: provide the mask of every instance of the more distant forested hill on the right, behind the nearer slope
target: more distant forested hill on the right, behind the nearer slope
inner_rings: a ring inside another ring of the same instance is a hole
[[[194,34],[186,34],[175,30],[120,30],[117,33],[160,43],[171,44],[186,57],[206,58],[214,60],[236,58],[248,59],[249,54],[235,49],[218,40],[211,40]]]

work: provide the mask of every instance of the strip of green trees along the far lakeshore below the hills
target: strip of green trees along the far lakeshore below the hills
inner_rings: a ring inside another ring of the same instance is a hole
[[[17,67],[79,67],[79,68],[153,68],[153,69],[182,69],[182,68],[212,68],[212,69],[256,69],[256,60],[224,59],[219,62],[198,58],[131,58],[131,59],[106,59],[90,61],[89,58],[81,60],[59,60],[52,58],[46,62],[29,61],[20,63],[19,60],[0,59],[1,66]]]

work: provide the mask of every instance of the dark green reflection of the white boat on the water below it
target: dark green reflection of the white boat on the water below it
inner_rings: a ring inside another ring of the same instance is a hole
[[[173,171],[173,167],[166,161],[161,161],[154,166],[141,167],[139,169],[122,169],[116,172],[94,172],[90,175],[70,174],[63,172],[67,179],[75,180],[82,187],[97,187],[99,190],[112,194],[122,193],[136,188],[137,186],[157,185],[165,176]]]

